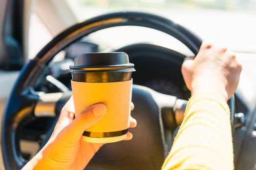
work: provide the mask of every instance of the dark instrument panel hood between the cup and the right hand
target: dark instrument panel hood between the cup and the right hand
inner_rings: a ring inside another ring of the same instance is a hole
[[[130,62],[135,65],[136,71],[132,73],[134,84],[180,99],[189,99],[190,91],[180,69],[185,55],[152,44],[133,44],[116,51],[126,52]]]

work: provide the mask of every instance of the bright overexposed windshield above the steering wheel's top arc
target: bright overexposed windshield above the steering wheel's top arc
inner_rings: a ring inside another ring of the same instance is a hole
[[[202,38],[217,39],[234,51],[256,52],[256,0],[67,1],[79,21],[112,11],[151,12],[174,20]]]

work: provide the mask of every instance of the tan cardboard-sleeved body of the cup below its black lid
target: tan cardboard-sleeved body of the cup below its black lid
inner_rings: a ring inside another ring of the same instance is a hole
[[[85,129],[83,139],[91,143],[111,143],[126,138],[129,127],[132,79],[122,82],[88,83],[71,80],[75,112],[103,103],[107,107],[105,116]]]

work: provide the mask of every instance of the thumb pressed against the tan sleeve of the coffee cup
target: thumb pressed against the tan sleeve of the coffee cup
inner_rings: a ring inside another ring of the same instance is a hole
[[[102,119],[106,111],[107,108],[102,103],[86,108],[69,124],[65,132],[66,136],[69,136],[73,141],[80,140],[84,131]]]

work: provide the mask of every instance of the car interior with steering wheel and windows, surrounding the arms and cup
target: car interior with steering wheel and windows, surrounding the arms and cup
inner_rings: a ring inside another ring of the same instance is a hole
[[[0,170],[20,170],[47,142],[85,52],[134,64],[133,139],[104,145],[85,170],[159,170],[190,91],[181,74],[209,35],[243,70],[229,100],[235,170],[256,168],[255,0],[1,0]],[[188,139],[189,140],[189,139]]]

